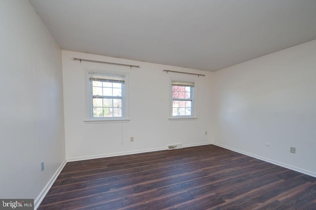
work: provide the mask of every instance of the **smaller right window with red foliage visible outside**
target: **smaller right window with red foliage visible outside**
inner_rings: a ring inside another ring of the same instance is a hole
[[[171,81],[172,117],[194,117],[194,82]]]

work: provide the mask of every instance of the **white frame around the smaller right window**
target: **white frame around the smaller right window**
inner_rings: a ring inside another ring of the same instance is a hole
[[[193,91],[191,92],[192,95],[192,107],[191,107],[191,115],[172,115],[172,108],[173,108],[173,98],[172,98],[172,84],[174,81],[182,82],[182,83],[194,83],[194,87],[192,87]],[[197,119],[197,80],[188,80],[183,78],[170,78],[169,82],[169,120],[195,120]]]

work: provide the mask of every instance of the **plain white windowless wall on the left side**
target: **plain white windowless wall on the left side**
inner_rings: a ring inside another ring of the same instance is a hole
[[[0,198],[36,199],[65,160],[61,49],[27,0],[0,1],[0,31]]]

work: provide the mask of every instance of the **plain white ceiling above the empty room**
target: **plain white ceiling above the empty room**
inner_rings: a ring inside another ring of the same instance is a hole
[[[64,50],[215,71],[316,39],[316,0],[29,0]]]

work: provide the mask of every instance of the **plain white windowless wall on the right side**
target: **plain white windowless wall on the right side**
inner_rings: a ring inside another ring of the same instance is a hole
[[[212,81],[217,144],[316,176],[316,40],[216,71]]]

